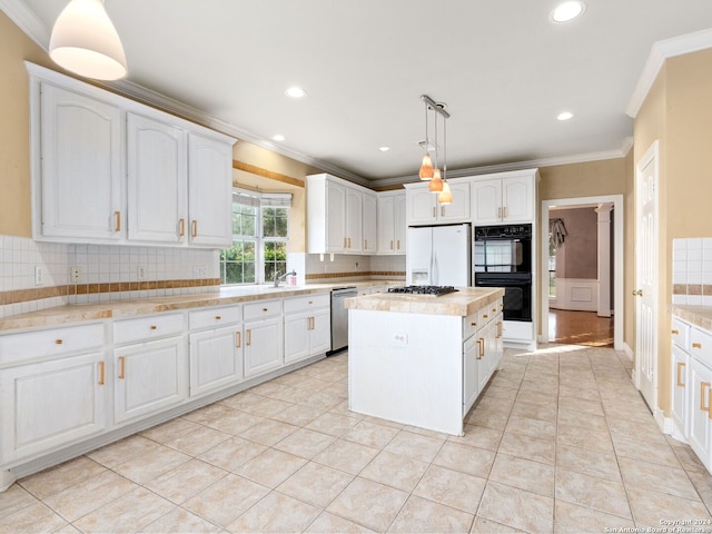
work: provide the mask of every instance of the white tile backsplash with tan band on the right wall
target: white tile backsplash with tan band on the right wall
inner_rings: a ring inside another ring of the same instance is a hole
[[[672,241],[672,304],[712,306],[712,238]]]

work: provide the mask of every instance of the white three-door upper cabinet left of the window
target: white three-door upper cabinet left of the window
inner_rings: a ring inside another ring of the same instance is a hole
[[[229,246],[235,139],[26,65],[34,239]]]

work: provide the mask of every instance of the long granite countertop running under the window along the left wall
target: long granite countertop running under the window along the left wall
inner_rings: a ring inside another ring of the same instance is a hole
[[[135,300],[111,300],[99,304],[69,304],[46,308],[39,312],[13,315],[0,319],[0,332],[20,328],[65,325],[83,320],[107,318],[128,318],[138,315],[175,312],[209,306],[226,306],[230,304],[265,300],[268,298],[295,297],[315,293],[330,291],[337,287],[373,287],[398,284],[393,280],[360,280],[340,281],[338,284],[307,284],[304,286],[279,286],[271,284],[255,286],[224,287],[219,291],[195,295],[178,295],[172,297],[140,298]]]

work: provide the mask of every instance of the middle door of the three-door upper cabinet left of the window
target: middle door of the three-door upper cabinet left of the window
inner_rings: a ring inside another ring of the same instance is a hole
[[[188,224],[185,132],[128,113],[127,139],[129,240],[184,240]]]

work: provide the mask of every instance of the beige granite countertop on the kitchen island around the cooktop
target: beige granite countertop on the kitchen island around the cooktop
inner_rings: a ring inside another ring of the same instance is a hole
[[[504,289],[485,287],[458,287],[456,293],[439,297],[402,293],[378,293],[346,299],[349,309],[374,312],[400,312],[406,314],[458,315],[466,317],[494,303]]]

